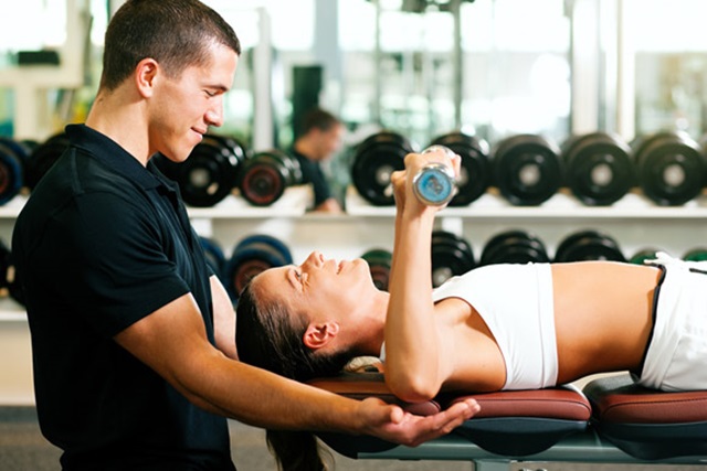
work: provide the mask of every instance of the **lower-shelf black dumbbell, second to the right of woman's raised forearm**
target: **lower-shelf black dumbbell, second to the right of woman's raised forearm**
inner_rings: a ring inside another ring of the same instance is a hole
[[[481,265],[528,264],[550,261],[545,244],[523,231],[504,231],[494,235],[482,251]]]

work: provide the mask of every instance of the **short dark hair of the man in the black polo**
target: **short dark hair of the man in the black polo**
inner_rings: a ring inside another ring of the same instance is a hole
[[[177,77],[187,66],[207,64],[214,42],[241,54],[233,29],[198,0],[128,0],[105,33],[101,87],[115,89],[146,57]]]

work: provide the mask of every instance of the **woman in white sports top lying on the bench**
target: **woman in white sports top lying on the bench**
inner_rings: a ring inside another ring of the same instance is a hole
[[[626,370],[647,387],[707,389],[707,264],[490,265],[433,290],[439,207],[412,191],[430,161],[458,172],[458,157],[432,152],[409,154],[392,175],[389,292],[362,259],[313,253],[300,266],[266,270],[239,297],[242,361],[306,381],[381,355],[391,392],[413,403],[442,390],[542,388]]]

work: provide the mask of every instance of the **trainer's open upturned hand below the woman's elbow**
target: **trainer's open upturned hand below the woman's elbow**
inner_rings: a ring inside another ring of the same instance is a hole
[[[408,447],[447,435],[464,420],[472,418],[479,405],[468,399],[441,413],[421,417],[407,413],[399,406],[389,405],[378,398],[368,398],[360,404],[363,433]]]

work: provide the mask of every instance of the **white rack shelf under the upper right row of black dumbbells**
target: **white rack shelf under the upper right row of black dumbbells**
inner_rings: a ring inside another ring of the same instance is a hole
[[[372,206],[354,190],[347,192],[347,211],[358,217],[394,216],[394,207]],[[468,206],[442,210],[437,224],[469,240],[477,257],[493,235],[515,228],[537,235],[550,256],[562,237],[593,228],[614,236],[626,258],[647,247],[680,257],[690,248],[707,247],[707,195],[680,206],[658,206],[631,192],[611,206],[587,206],[560,191],[539,206],[514,206],[489,191]]]

